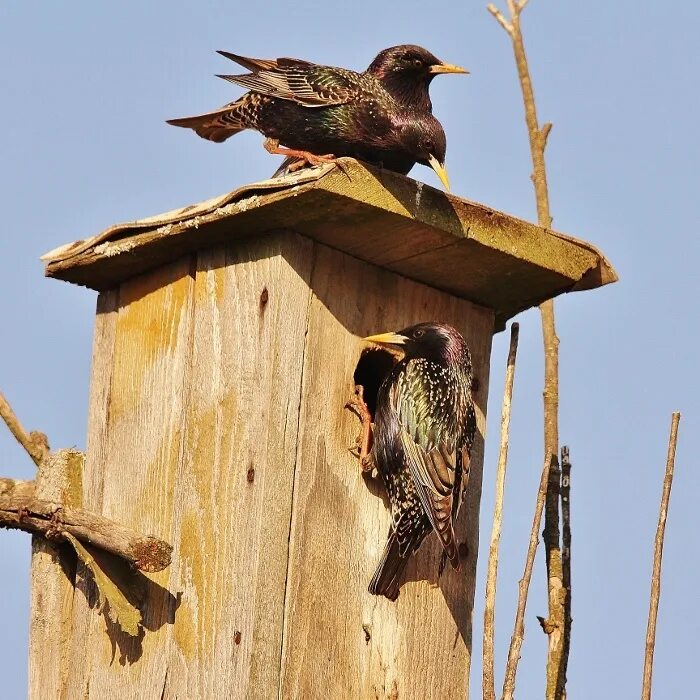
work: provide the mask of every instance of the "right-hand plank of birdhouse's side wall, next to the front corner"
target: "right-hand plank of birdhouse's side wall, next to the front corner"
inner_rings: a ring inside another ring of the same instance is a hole
[[[278,696],[311,249],[199,256],[167,697]]]

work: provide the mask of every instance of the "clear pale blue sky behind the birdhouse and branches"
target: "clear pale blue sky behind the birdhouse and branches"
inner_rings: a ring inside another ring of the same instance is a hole
[[[504,5],[505,3],[502,3]],[[485,3],[236,2],[0,5],[0,390],[55,447],[84,447],[95,295],[42,276],[39,255],[106,226],[268,176],[277,160],[246,132],[223,146],[165,119],[238,94],[215,49],[365,67],[418,43],[468,77],[432,96],[455,193],[534,219],[520,89]],[[574,631],[570,698],[639,692],[649,571],[672,410],[683,414],[656,647],[656,697],[682,697],[696,663],[697,274],[700,53],[696,3],[531,0],[523,27],[543,121],[555,228],[609,256],[621,281],[557,303],[561,440],[571,446]],[[430,184],[435,176],[417,167]],[[521,315],[499,576],[497,669],[510,637],[542,459],[537,312]],[[480,695],[484,543],[490,532],[507,334],[495,338],[474,628]],[[0,427],[0,475],[33,464]],[[690,536],[690,543],[686,537]],[[0,672],[26,694],[29,538],[0,533]],[[532,586],[520,697],[542,695],[542,558]]]

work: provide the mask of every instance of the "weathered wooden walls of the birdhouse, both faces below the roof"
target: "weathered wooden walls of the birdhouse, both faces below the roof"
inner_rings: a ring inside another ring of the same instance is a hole
[[[493,313],[292,233],[187,256],[99,310],[84,507],[171,542],[173,563],[125,579],[136,638],[78,567],[67,675],[32,697],[464,697],[483,440],[465,567],[435,585],[426,544],[394,604],[367,593],[389,513],[343,405],[360,337],[444,320],[474,354],[481,435]]]

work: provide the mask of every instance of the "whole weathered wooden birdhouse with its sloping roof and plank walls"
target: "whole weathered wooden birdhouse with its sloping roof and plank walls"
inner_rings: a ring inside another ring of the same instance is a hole
[[[66,597],[32,647],[37,700],[467,696],[492,336],[616,277],[587,243],[344,164],[45,256],[99,292],[82,505],[174,551],[139,574],[137,636],[89,582]],[[431,535],[391,602],[367,591],[390,515],[344,406],[391,366],[361,338],[425,320],[469,344],[479,434],[461,571],[438,577]]]

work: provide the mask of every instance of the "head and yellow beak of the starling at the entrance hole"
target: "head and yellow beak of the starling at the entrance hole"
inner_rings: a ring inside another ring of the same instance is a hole
[[[426,358],[438,362],[462,361],[469,351],[460,333],[446,323],[418,323],[395,333],[380,333],[365,341],[399,348],[406,359]]]

